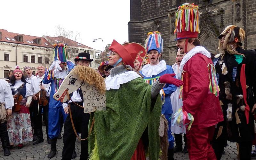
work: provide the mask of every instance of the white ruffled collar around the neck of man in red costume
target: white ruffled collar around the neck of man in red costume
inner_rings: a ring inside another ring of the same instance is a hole
[[[183,67],[185,66],[185,64],[188,62],[188,60],[193,57],[194,55],[196,55],[197,53],[201,53],[203,55],[205,55],[208,58],[211,58],[211,53],[208,52],[204,47],[202,46],[196,46],[195,48],[191,49],[182,59],[181,63],[180,63],[180,71],[183,70]]]

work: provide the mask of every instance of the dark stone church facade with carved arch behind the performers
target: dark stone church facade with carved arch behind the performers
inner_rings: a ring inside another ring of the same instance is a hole
[[[164,40],[162,59],[175,63],[175,13],[180,4],[195,3],[200,12],[201,45],[213,54],[218,48],[218,36],[228,26],[236,25],[246,32],[244,49],[256,49],[255,0],[131,0],[129,41],[145,45],[147,33],[160,31]]]

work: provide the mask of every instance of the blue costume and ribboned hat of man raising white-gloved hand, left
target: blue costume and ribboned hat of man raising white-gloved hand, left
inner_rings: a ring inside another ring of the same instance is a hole
[[[63,79],[68,75],[68,72],[75,66],[74,63],[68,61],[67,54],[68,46],[65,44],[55,44],[54,45],[54,62],[50,66],[50,68],[45,69],[44,73],[44,84],[51,83],[51,91],[50,91],[50,102],[49,102],[49,115],[48,115],[48,134],[49,138],[56,138],[61,130],[60,130],[60,116],[63,115],[64,122],[67,118],[67,114],[65,114],[64,109],[62,107],[62,102],[57,101],[53,98],[53,94],[55,94],[60,87]],[[57,62],[59,61],[59,62]],[[67,63],[66,70],[62,71],[59,63],[64,62]],[[53,69],[55,67],[55,69]],[[49,91],[48,91],[49,92]]]

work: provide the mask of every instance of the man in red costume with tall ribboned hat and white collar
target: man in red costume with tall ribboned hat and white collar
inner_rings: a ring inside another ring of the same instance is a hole
[[[186,126],[190,129],[187,131],[188,156],[189,159],[216,159],[210,142],[215,125],[223,121],[223,114],[211,54],[200,46],[197,38],[198,6],[184,3],[179,6],[176,16],[176,46],[186,53],[180,63],[184,82],[182,108],[194,117],[191,128]]]

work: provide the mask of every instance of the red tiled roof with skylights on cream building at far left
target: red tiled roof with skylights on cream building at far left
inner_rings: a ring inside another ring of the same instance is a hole
[[[0,29],[0,32],[2,32],[2,37],[0,39],[1,42],[18,43],[18,44],[23,44],[23,45],[50,47],[50,48],[53,47],[51,45],[51,43],[49,43],[45,38],[42,38],[42,37],[30,36],[30,35],[20,34],[20,33],[12,33],[12,32],[8,32],[7,30],[4,30],[4,29]],[[17,39],[14,38],[17,35],[23,36],[23,42],[19,42],[19,41],[17,41]],[[8,40],[7,38],[10,38],[11,40]],[[36,38],[41,38],[41,44],[36,44],[35,42],[32,43],[33,39],[36,39]],[[12,39],[14,39],[15,41],[13,41]],[[30,41],[30,42],[32,41],[32,42],[29,43],[28,41]],[[45,43],[48,45],[46,45]]]

